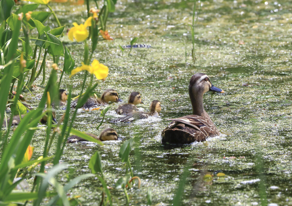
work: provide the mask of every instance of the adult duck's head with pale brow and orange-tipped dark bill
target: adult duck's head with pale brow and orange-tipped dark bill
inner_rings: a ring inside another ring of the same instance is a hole
[[[208,91],[224,93],[222,89],[214,87],[207,74],[204,73],[194,74],[189,84],[190,96],[191,94],[195,96],[203,95]]]

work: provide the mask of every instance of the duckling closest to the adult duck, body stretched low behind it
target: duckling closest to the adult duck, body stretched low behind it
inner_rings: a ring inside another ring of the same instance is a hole
[[[150,112],[144,111],[133,111],[127,116],[120,117],[110,121],[111,123],[118,123],[118,122],[133,122],[139,119],[147,119],[150,116],[159,117],[159,113],[161,111],[161,105],[158,100],[153,100],[150,104]]]

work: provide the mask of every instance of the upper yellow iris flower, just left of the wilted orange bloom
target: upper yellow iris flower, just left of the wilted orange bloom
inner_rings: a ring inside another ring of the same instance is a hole
[[[84,41],[89,35],[89,32],[86,27],[91,26],[91,21],[92,17],[89,17],[85,21],[84,25],[83,24],[78,25],[76,22],[74,22],[73,23],[74,27],[72,27],[68,32],[68,38],[71,41],[73,41],[73,39],[75,39],[77,42]]]

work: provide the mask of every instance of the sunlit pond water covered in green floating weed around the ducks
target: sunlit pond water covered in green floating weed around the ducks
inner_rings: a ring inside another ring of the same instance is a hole
[[[93,55],[110,70],[96,94],[113,88],[127,101],[130,92],[139,91],[145,104],[138,106],[145,111],[152,100],[161,101],[161,118],[109,123],[117,117],[113,109],[118,103],[113,103],[100,129],[116,129],[121,140],[105,142],[104,146],[68,144],[62,161],[74,168],[75,177],[90,172],[88,161],[95,151],[100,151],[105,178],[109,186],[114,186],[125,174],[125,165],[119,158],[120,146],[135,137],[130,160],[134,174],[141,178],[141,188],[135,186],[128,191],[131,205],[146,205],[148,188],[153,205],[171,204],[187,166],[190,175],[183,205],[261,205],[260,179],[268,205],[292,205],[292,3],[201,1],[194,65],[188,25],[192,23],[193,4],[183,0],[118,1],[107,23],[114,41],[100,41]],[[86,18],[86,6],[51,5],[61,24],[69,27]],[[125,49],[123,54],[119,45],[128,46],[133,37],[139,37],[138,44],[151,47],[133,48],[129,56],[129,49]],[[63,41],[80,66],[83,45],[69,42],[67,37]],[[188,83],[197,72],[208,74],[213,85],[225,90],[224,94],[204,95],[205,109],[221,135],[205,142],[166,148],[161,144],[161,131],[169,123],[166,119],[192,113]],[[72,94],[78,95],[82,78],[83,73],[74,78],[65,76],[62,88],[68,91],[72,85]],[[36,89],[34,94],[42,90]],[[36,104],[37,100],[31,98],[31,102]],[[57,112],[60,118],[64,111]],[[98,134],[96,126],[100,121],[100,111],[78,112],[73,127]],[[41,130],[35,133],[35,157],[40,155],[44,139]],[[225,176],[217,177],[218,172]],[[204,179],[206,174],[214,176]],[[60,181],[65,183],[65,173]],[[81,195],[82,205],[99,205],[100,187],[98,179],[91,178],[70,193]],[[115,205],[125,204],[123,191],[112,193],[118,199],[114,200]]]

